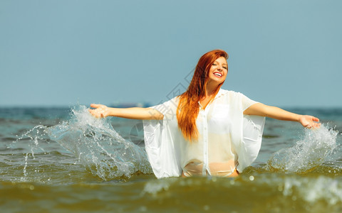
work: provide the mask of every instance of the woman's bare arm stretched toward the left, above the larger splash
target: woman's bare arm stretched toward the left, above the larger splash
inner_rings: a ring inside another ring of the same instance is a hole
[[[90,104],[90,114],[96,118],[105,118],[107,116],[116,116],[125,119],[140,119],[140,120],[162,120],[164,115],[152,108],[111,108],[103,104]]]

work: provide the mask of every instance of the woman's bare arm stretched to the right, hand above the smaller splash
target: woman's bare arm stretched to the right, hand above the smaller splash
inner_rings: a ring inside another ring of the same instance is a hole
[[[318,123],[319,119],[314,116],[294,114],[279,107],[271,107],[261,103],[253,104],[244,111],[244,114],[266,116],[284,121],[297,121],[306,128],[317,128],[321,125]]]

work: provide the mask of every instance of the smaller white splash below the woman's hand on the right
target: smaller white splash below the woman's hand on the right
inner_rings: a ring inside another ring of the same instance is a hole
[[[324,163],[336,148],[338,132],[321,126],[319,129],[306,129],[304,138],[291,148],[283,148],[274,153],[266,163],[267,170],[290,173],[307,173]]]

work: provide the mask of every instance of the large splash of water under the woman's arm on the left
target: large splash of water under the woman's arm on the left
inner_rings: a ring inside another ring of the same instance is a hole
[[[73,109],[71,119],[47,128],[46,132],[103,180],[130,178],[137,172],[152,173],[144,148],[126,141],[109,119],[95,119],[84,106]]]

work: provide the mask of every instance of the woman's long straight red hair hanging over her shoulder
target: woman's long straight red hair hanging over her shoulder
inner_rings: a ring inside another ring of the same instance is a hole
[[[187,141],[196,141],[199,133],[196,126],[196,119],[199,113],[198,102],[205,96],[209,70],[217,58],[228,58],[224,50],[212,50],[202,55],[196,65],[194,76],[187,91],[180,95],[180,102],[177,107],[178,127]],[[221,87],[219,84],[219,87]],[[217,87],[216,93],[219,91]]]

